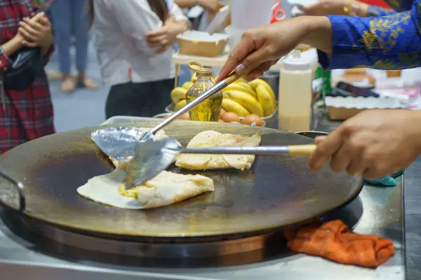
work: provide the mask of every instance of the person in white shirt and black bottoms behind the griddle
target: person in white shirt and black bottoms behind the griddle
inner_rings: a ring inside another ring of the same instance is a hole
[[[173,54],[189,22],[173,0],[91,0],[101,76],[111,85],[105,114],[152,117],[171,104]]]

